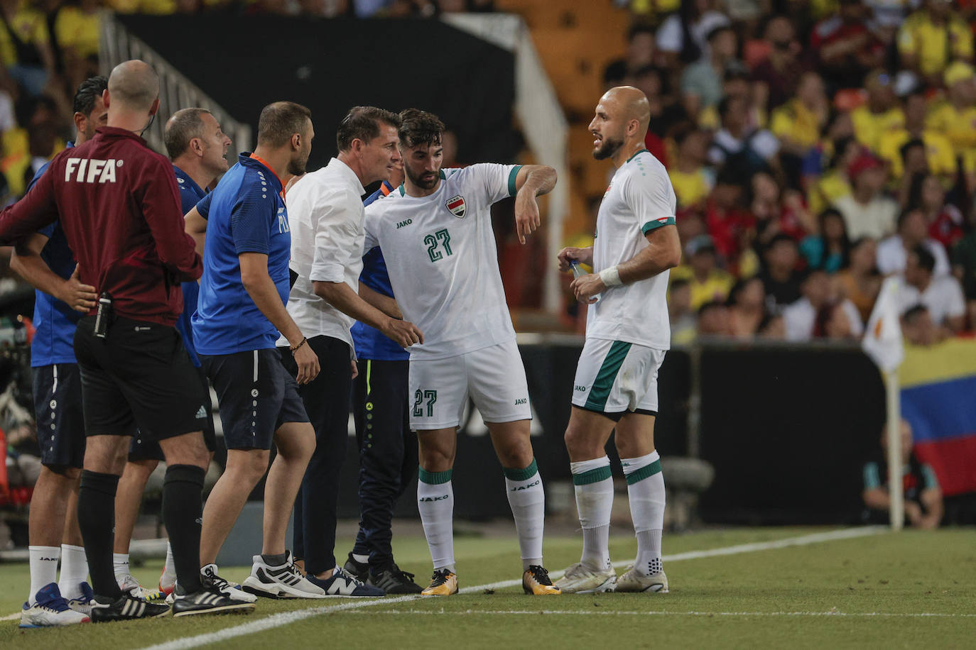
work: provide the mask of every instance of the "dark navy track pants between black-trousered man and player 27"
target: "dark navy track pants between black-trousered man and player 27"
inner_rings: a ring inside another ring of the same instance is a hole
[[[352,553],[373,566],[393,561],[390,524],[396,501],[417,471],[417,436],[410,431],[410,362],[360,360],[352,387],[359,443],[359,533]]]

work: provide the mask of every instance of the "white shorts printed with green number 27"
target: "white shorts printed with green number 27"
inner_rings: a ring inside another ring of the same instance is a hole
[[[485,422],[532,419],[525,367],[513,340],[447,359],[410,360],[409,395],[414,431],[457,427],[468,396]]]

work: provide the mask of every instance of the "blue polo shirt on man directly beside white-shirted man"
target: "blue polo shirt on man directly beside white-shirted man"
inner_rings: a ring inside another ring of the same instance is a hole
[[[288,303],[288,262],[292,236],[281,197],[281,180],[246,154],[224,174],[213,192],[196,205],[207,219],[203,278],[193,341],[201,355],[230,355],[274,348],[278,330],[264,318],[241,283],[238,255],[267,255],[267,272]]]

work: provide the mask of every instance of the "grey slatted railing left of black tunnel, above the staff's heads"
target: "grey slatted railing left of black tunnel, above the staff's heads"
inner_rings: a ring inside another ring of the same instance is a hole
[[[214,114],[224,134],[233,141],[231,152],[251,150],[253,136],[249,125],[233,119],[220,104],[184,77],[166,58],[131,34],[113,14],[102,12],[102,40],[99,46],[102,74],[108,76],[113,67],[131,58],[142,59],[159,74],[159,112],[142,134],[153,150],[166,154],[163,142],[166,121],[176,111],[190,106],[206,108]],[[231,165],[234,162],[231,159]]]

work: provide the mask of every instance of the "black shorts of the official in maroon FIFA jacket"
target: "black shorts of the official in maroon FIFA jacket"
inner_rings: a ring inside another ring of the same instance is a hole
[[[176,327],[116,317],[107,336],[86,316],[74,332],[85,433],[166,440],[202,431],[210,412]]]

